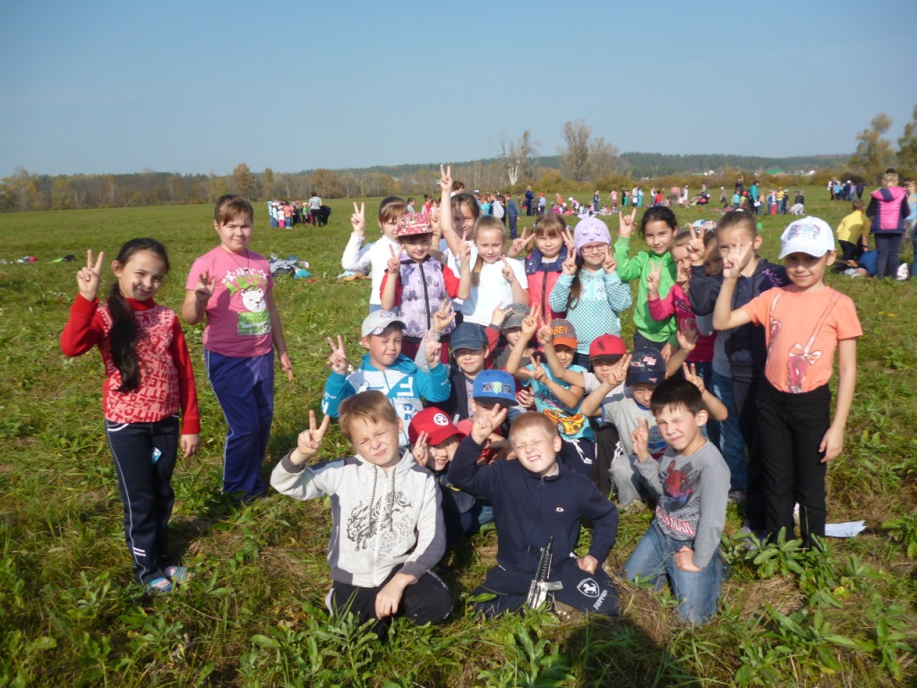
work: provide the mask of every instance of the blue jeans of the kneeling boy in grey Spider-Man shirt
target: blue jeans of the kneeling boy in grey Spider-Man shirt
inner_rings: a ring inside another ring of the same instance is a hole
[[[692,544],[667,538],[654,520],[624,563],[624,574],[632,582],[637,576],[648,579],[657,590],[664,574],[672,586],[672,594],[679,601],[679,616],[691,624],[702,624],[716,613],[716,602],[723,587],[723,563],[717,549],[702,571],[680,571],[675,565],[675,553]]]

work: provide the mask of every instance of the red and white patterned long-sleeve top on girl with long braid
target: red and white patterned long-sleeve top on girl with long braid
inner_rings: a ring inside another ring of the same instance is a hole
[[[87,301],[77,295],[70,308],[70,319],[61,333],[65,356],[80,356],[99,348],[105,364],[102,405],[105,418],[116,423],[155,423],[174,416],[182,409],[182,435],[201,431],[197,408],[197,388],[191,357],[182,325],[174,311],[152,299],[127,304],[137,320],[138,338],[134,342],[140,369],[140,386],[133,392],[118,392],[121,372],[112,359],[109,333],[112,316],[108,305],[98,299]]]

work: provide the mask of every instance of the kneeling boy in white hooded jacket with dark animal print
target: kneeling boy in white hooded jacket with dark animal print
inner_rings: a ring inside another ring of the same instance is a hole
[[[329,418],[316,427],[310,411],[309,429],[271,473],[271,486],[281,494],[332,498],[329,609],[349,611],[360,623],[376,619],[381,637],[395,615],[417,624],[442,621],[452,609],[452,595],[430,571],[445,550],[439,490],[433,476],[399,447],[401,418],[381,392],[350,397],[340,407],[340,428],[356,455],[306,466]]]

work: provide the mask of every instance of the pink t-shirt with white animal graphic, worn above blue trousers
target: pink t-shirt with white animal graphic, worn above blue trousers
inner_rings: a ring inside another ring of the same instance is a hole
[[[204,348],[245,359],[272,350],[271,312],[265,295],[273,288],[271,265],[254,251],[236,254],[217,246],[194,261],[185,289],[209,272],[214,293],[207,301]]]

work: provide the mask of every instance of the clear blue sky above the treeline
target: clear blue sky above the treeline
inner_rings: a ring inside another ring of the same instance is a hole
[[[849,153],[911,121],[914,9],[6,0],[0,177],[470,161],[526,129],[555,155],[576,119],[622,151]]]

